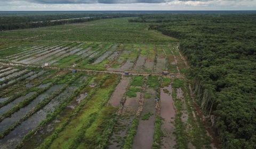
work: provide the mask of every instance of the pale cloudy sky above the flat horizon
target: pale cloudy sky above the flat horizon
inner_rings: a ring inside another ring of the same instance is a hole
[[[256,0],[0,0],[0,11],[256,10]]]

